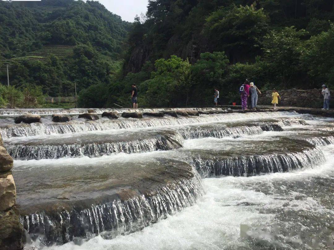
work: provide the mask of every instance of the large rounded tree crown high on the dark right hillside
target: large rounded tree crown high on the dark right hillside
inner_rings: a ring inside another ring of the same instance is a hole
[[[206,19],[205,32],[216,49],[230,55],[230,61],[244,61],[259,54],[268,22],[264,10],[254,5],[222,7]]]

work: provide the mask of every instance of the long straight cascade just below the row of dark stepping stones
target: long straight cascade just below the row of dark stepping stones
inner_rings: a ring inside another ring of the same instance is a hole
[[[293,112],[263,112],[263,113],[231,113],[214,114],[191,117],[174,118],[166,115],[164,118],[122,119],[110,120],[108,118],[98,121],[73,120],[64,124],[32,123],[19,125],[6,125],[0,127],[0,133],[4,139],[11,137],[70,134],[86,131],[106,131],[131,128],[166,127],[174,125],[190,125],[210,122],[225,122],[242,119],[261,119],[281,116],[296,115]]]

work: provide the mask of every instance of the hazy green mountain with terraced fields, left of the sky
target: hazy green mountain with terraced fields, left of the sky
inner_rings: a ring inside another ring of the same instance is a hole
[[[0,1],[0,79],[17,88],[41,86],[74,95],[111,82],[122,65],[131,23],[96,1]]]

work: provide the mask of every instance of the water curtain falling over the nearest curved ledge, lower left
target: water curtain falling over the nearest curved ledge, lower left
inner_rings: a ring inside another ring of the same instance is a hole
[[[43,245],[63,244],[76,237],[92,238],[109,231],[109,237],[139,231],[193,205],[202,196],[203,188],[198,173],[191,179],[168,183],[154,193],[127,200],[92,205],[89,208],[63,210],[48,215],[45,212],[21,216],[21,223],[32,240],[43,237]]]

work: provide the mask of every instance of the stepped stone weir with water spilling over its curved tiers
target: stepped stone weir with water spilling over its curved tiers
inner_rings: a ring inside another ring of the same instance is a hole
[[[102,116],[111,111],[118,118]],[[13,158],[15,212],[24,230],[17,238],[25,246],[140,237],[136,232],[194,207],[202,211],[212,181],[242,180],[249,187],[263,176],[311,171],[328,161],[326,150],[334,144],[334,119],[292,109],[136,110],[142,118],[124,118],[124,112],[133,110],[0,109],[3,145]],[[28,117],[15,123],[27,113],[40,122]],[[82,113],[95,118],[79,118]],[[54,122],[53,114],[70,119]],[[246,204],[241,200],[233,206]],[[0,245],[1,233],[0,226]]]

